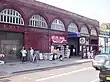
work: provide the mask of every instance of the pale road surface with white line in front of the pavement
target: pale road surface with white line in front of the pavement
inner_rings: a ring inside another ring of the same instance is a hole
[[[34,71],[1,79],[0,82],[99,82],[98,73],[91,63],[64,68]]]

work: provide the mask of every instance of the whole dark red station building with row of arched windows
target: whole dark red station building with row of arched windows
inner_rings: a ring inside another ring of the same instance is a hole
[[[85,48],[92,46],[97,52],[98,29],[97,20],[45,3],[34,0],[0,1],[0,53],[8,54],[8,58],[16,57],[15,53],[23,46],[50,52],[50,46],[55,43],[52,37],[60,38],[57,44],[75,46],[78,54],[79,38],[84,36]]]

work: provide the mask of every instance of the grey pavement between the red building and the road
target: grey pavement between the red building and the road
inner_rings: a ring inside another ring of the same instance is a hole
[[[44,69],[68,66],[68,65],[76,65],[76,64],[86,63],[86,62],[91,62],[91,61],[92,59],[80,59],[80,58],[66,59],[65,58],[63,61],[38,60],[35,63],[31,63],[31,62],[6,63],[0,66],[0,78],[9,77],[16,73],[21,73],[21,72],[28,72],[28,71],[42,70],[42,69],[44,70]]]

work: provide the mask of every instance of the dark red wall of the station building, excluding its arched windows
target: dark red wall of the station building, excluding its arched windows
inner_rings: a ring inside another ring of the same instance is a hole
[[[87,26],[89,33],[92,28],[95,28],[97,35],[99,35],[99,22],[92,20],[69,11],[53,7],[51,5],[43,4],[34,0],[1,0],[0,11],[3,9],[14,9],[18,11],[24,19],[24,25],[12,25],[0,23],[0,30],[14,31],[24,33],[24,46],[29,49],[41,50],[42,52],[49,51],[49,38],[51,35],[59,35],[67,37],[67,28],[71,22],[78,26],[78,30],[83,25]],[[49,29],[41,29],[29,26],[29,19],[38,14],[45,18]],[[65,32],[50,30],[54,19],[60,19],[65,25]],[[90,40],[95,39],[91,44],[98,45],[98,36],[90,37]]]

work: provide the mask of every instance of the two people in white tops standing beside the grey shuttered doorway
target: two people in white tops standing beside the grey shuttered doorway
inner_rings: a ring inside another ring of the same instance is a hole
[[[26,49],[24,47],[21,49],[20,52],[21,52],[21,60],[22,60],[22,62],[26,62],[27,61],[28,52],[26,51]],[[31,62],[34,62],[35,58],[36,58],[36,55],[35,55],[34,52],[35,52],[34,49],[31,47],[30,50],[29,50],[29,60]]]

